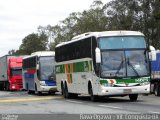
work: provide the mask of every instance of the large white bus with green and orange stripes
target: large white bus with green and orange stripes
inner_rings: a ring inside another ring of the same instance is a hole
[[[149,45],[138,31],[84,33],[55,48],[57,89],[65,98],[150,93]]]

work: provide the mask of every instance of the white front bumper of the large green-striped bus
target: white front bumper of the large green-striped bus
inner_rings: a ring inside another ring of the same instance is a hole
[[[150,84],[144,86],[131,86],[131,87],[104,87],[98,93],[100,96],[110,95],[129,95],[129,94],[149,94]]]

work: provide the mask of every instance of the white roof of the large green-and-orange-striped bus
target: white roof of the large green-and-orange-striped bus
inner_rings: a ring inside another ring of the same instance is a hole
[[[76,42],[79,40],[82,40],[84,38],[88,38],[88,37],[107,37],[107,36],[144,36],[143,33],[138,32],[138,31],[126,31],[126,30],[121,30],[121,31],[102,31],[102,32],[87,32],[87,33],[83,33],[80,35],[77,35],[75,37],[73,37],[71,39],[71,41],[67,41],[67,42],[62,42],[60,44],[58,44],[56,47],[60,47],[72,42]]]

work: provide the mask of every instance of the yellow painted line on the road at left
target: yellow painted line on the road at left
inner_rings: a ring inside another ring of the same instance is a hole
[[[0,103],[4,102],[24,102],[24,101],[37,101],[37,100],[51,100],[51,99],[58,99],[62,97],[44,97],[44,98],[20,98],[20,99],[12,99],[12,100],[0,100]]]

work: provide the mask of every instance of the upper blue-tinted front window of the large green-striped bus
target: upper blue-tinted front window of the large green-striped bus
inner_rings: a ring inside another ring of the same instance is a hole
[[[100,49],[146,48],[143,36],[117,36],[99,38]]]

